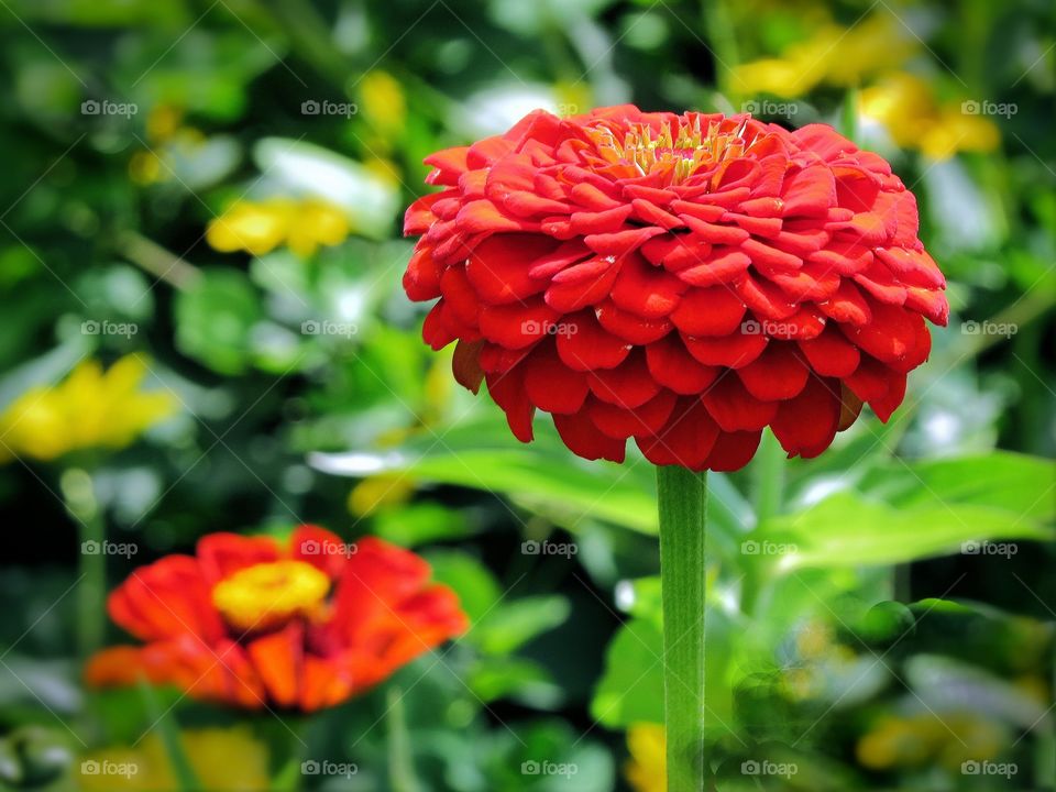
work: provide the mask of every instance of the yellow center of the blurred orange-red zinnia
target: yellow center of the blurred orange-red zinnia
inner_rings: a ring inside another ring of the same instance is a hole
[[[229,625],[255,630],[319,613],[330,579],[304,561],[275,561],[235,572],[212,590],[212,604]]]

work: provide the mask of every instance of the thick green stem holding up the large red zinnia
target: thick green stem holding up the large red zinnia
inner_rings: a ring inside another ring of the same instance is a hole
[[[705,473],[657,468],[669,792],[704,790]]]

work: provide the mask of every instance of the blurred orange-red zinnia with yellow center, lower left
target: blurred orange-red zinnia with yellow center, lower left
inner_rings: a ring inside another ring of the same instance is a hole
[[[465,630],[454,593],[429,574],[410,551],[373,538],[350,548],[316,526],[288,549],[212,534],[110,595],[110,616],[146,646],[106,649],[86,675],[146,676],[250,708],[332,706]]]

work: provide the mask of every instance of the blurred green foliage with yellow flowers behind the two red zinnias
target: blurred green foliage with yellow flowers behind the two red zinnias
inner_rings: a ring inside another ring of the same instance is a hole
[[[711,477],[718,789],[1056,788],[1050,0],[0,0],[0,787],[169,788],[85,581],[312,521],[474,627],[299,755],[179,701],[211,788],[662,789],[650,466],[517,443],[399,288],[425,155],[634,101],[836,125],[950,282],[890,424]]]

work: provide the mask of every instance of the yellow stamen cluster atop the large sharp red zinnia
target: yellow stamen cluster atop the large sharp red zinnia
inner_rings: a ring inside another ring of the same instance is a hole
[[[670,170],[672,184],[684,182],[701,167],[723,160],[743,156],[750,143],[744,139],[745,123],[730,132],[722,132],[719,124],[712,122],[707,131],[701,129],[701,118],[691,122],[680,120],[678,130],[664,122],[653,136],[647,124],[634,124],[625,132],[623,142],[617,141],[612,130],[600,130],[596,138],[598,153],[613,164],[632,165],[639,175],[660,169]]]

